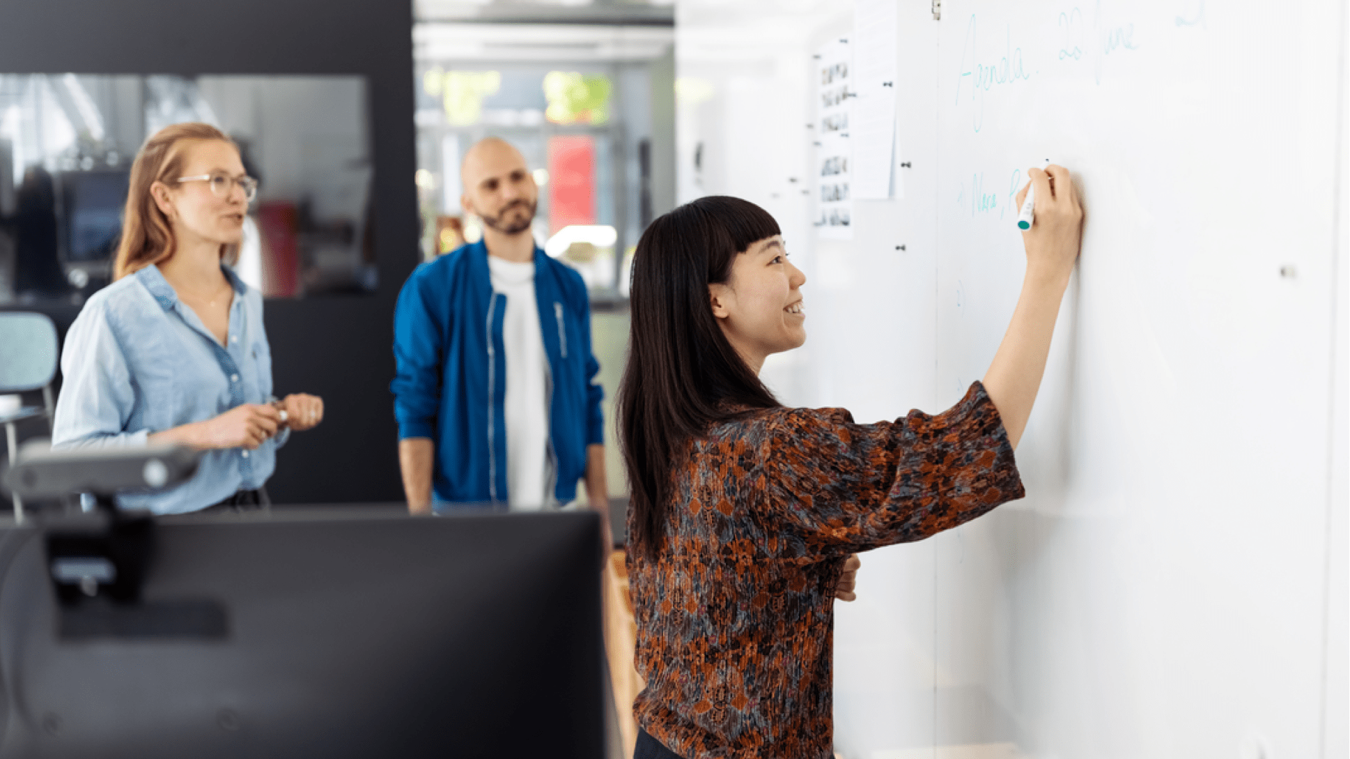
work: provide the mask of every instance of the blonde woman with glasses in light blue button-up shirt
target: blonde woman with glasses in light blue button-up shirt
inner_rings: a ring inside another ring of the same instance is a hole
[[[122,508],[263,508],[275,450],[319,424],[324,405],[273,398],[262,294],[230,267],[258,182],[227,135],[186,123],[146,142],[130,185],[115,281],[66,335],[53,443],[205,451],[190,481],[122,496]]]

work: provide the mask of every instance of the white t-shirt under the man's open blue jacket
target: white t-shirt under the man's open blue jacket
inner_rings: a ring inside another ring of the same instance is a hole
[[[506,296],[506,488],[512,511],[554,502],[548,461],[548,357],[535,301],[535,265],[487,257],[493,290]]]

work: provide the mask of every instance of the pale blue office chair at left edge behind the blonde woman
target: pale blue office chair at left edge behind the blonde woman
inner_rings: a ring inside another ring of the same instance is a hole
[[[14,466],[19,450],[15,423],[35,416],[47,417],[51,429],[54,405],[51,402],[51,380],[57,375],[57,325],[42,313],[5,312],[0,313],[0,394],[27,393],[42,389],[42,407],[19,407],[18,411],[0,412],[4,424],[5,443],[9,451],[9,466]],[[14,517],[23,521],[23,502],[18,493],[14,498]]]

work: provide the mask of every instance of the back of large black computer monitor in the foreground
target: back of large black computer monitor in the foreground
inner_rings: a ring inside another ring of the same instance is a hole
[[[0,758],[602,756],[597,519],[161,519],[131,605],[3,528]]]

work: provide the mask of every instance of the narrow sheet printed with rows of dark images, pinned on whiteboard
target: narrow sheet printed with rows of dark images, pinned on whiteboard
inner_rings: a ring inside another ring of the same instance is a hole
[[[815,230],[822,238],[853,239],[849,196],[850,55],[844,39],[821,47],[814,58],[817,81]]]

